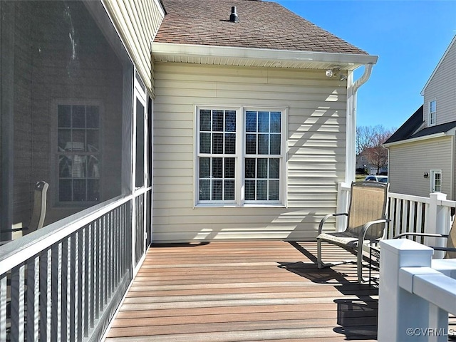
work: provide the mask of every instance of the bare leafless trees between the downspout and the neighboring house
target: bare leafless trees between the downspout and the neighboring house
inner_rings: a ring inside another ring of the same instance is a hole
[[[357,155],[363,153],[367,158],[369,165],[380,172],[382,167],[388,163],[388,150],[383,147],[383,143],[390,138],[395,132],[394,128],[390,130],[382,125],[361,126],[356,128],[356,152]]]

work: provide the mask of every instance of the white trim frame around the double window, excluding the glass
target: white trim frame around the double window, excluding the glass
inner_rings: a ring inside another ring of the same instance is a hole
[[[212,202],[198,202],[199,194],[199,110],[235,110],[236,111],[236,153],[232,155],[235,158],[235,180],[234,180],[234,201],[212,201]],[[244,199],[244,147],[245,147],[245,112],[247,110],[267,110],[281,112],[281,167],[279,174],[279,187],[280,187],[280,200],[265,201],[265,202],[251,202]],[[249,105],[249,106],[233,106],[233,105],[195,105],[194,108],[194,175],[193,175],[193,191],[194,191],[194,207],[286,207],[287,203],[287,128],[288,128],[288,108],[287,107],[273,107],[264,105]],[[239,125],[239,123],[241,123]]]

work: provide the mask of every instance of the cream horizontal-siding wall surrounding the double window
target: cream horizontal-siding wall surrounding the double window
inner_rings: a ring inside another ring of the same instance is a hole
[[[346,83],[321,71],[156,63],[155,242],[313,239],[345,175]],[[284,207],[195,207],[195,106],[288,108]]]

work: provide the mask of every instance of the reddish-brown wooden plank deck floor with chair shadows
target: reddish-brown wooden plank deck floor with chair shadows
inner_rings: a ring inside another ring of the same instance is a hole
[[[315,242],[156,245],[105,341],[376,341],[375,286],[315,260]]]

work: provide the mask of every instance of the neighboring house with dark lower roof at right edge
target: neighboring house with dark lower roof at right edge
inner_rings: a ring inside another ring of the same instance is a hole
[[[456,36],[421,92],[423,105],[385,142],[392,192],[456,198],[455,76]]]

